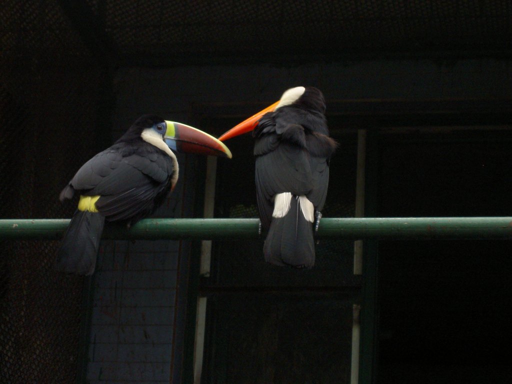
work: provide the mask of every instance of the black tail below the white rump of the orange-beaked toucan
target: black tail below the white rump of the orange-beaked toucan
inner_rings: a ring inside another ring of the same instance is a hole
[[[275,265],[311,268],[315,263],[312,223],[302,214],[299,200],[293,196],[288,213],[272,218],[263,247],[265,261]]]

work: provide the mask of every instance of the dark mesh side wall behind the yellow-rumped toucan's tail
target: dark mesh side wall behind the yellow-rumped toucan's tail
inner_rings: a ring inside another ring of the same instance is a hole
[[[0,10],[0,217],[70,217],[59,190],[97,152],[100,71],[56,2]],[[56,241],[0,243],[0,382],[74,382],[84,279]]]

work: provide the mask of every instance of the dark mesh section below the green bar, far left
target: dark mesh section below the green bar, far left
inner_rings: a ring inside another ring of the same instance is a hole
[[[82,279],[53,272],[56,242],[2,244],[0,381],[73,382]]]

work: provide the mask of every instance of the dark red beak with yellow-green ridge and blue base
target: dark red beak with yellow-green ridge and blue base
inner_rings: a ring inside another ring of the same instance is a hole
[[[193,126],[165,120],[167,130],[165,143],[172,150],[198,155],[227,157],[230,159],[231,151],[222,142]]]

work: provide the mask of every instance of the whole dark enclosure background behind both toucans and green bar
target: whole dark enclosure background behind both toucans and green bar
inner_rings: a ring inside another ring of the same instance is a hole
[[[142,113],[220,134],[297,85],[324,92],[343,143],[326,216],[353,215],[358,129],[378,131],[373,215],[509,216],[510,20],[503,0],[6,0],[0,217],[70,217],[73,206],[57,200],[62,186]],[[216,215],[251,217],[251,141],[229,145],[235,158],[219,162]],[[200,215],[204,159],[180,161],[180,189],[159,216]],[[0,381],[180,382],[191,370],[186,301],[200,293],[212,298],[203,377],[229,381],[230,372],[243,382],[250,357],[265,361],[251,372],[261,380],[347,382],[351,305],[362,285],[351,275],[350,242],[321,242],[317,268],[301,274],[265,265],[261,242],[217,244],[217,269],[198,292],[188,289],[189,244],[119,244],[104,244],[90,281],[53,271],[57,241],[2,241]],[[118,263],[118,246],[138,266]],[[374,379],[509,379],[508,254],[505,241],[380,242]],[[147,278],[155,273],[161,284]],[[116,286],[116,276],[134,283]],[[163,303],[148,307],[158,324],[135,315],[105,323],[103,312],[124,314],[137,302],[105,307],[102,295],[127,300],[138,289],[143,303]],[[279,348],[254,349],[266,339],[247,336],[278,331]]]

